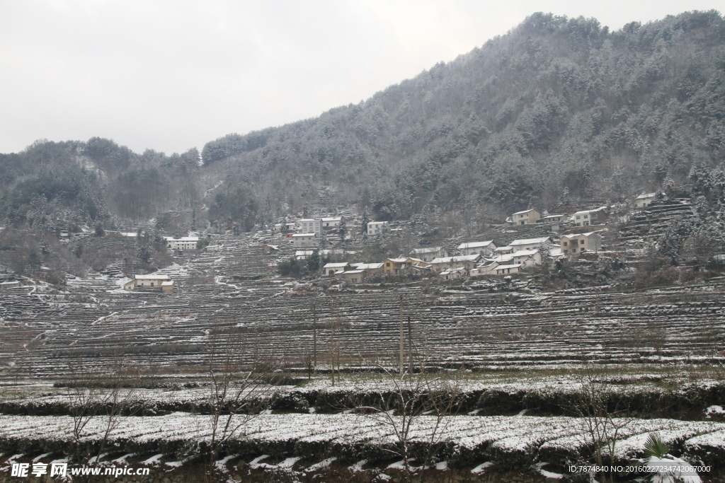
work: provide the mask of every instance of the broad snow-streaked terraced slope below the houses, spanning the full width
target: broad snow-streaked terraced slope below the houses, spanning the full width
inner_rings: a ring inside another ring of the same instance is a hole
[[[220,242],[223,252],[185,255],[161,271],[177,281],[171,294],[124,292],[107,274],[72,280],[64,290],[4,290],[0,358],[6,375],[53,377],[78,354],[104,364],[119,352],[156,373],[193,372],[207,358],[212,332],[230,329],[244,361],[266,356],[302,366],[312,350],[313,304],[321,366],[333,344],[343,366],[394,364],[401,296],[415,353],[428,364],[510,369],[582,358],[608,364],[725,360],[721,279],[640,292],[541,293],[520,282],[450,287],[427,281],[323,291],[271,276],[269,265],[289,252],[270,258],[254,240]]]

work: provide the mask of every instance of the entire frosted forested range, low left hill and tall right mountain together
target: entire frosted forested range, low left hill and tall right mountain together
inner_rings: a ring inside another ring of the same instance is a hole
[[[616,32],[538,13],[368,101],[211,141],[203,165],[196,149],[136,154],[101,138],[0,155],[0,219],[72,230],[164,225],[181,210],[193,213],[188,228],[208,219],[251,230],[312,206],[323,188],[376,219],[476,210],[501,220],[565,199],[692,194],[693,182],[714,202],[725,186],[724,80],[718,12]]]

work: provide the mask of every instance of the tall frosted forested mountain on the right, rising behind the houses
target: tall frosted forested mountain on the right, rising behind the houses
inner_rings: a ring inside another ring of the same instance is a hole
[[[687,185],[693,166],[722,180],[724,41],[717,12],[616,32],[538,13],[368,101],[227,135],[202,156],[228,169],[222,204],[247,190],[297,210],[329,185],[378,219],[616,200]]]

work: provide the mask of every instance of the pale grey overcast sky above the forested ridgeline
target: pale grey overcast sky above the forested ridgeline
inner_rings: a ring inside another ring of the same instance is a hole
[[[359,102],[533,12],[616,30],[685,9],[725,0],[0,0],[0,152],[96,135],[201,150]]]

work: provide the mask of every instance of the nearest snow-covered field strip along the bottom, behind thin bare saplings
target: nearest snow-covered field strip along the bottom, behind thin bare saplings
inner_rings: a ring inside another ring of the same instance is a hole
[[[592,439],[584,430],[587,421],[568,417],[449,416],[444,431],[434,443],[446,442],[438,451],[451,464],[476,466],[484,461],[563,465],[587,455]],[[168,461],[193,455],[194,448],[211,437],[210,416],[174,413],[157,417],[125,417],[109,437],[115,452],[141,455],[164,454]],[[411,442],[431,443],[434,416],[413,421]],[[72,447],[70,416],[0,416],[0,445],[4,450],[28,456],[62,452]],[[98,417],[84,430],[80,443],[99,441],[105,419]],[[725,424],[682,422],[671,419],[632,419],[619,430],[616,454],[620,461],[643,456],[650,433],[658,432],[691,463],[712,461],[725,448]],[[225,445],[229,453],[246,457],[293,456],[307,461],[326,458],[385,458],[379,448],[394,448],[398,442],[392,426],[355,414],[262,414],[241,425]]]

